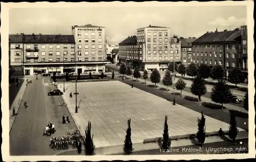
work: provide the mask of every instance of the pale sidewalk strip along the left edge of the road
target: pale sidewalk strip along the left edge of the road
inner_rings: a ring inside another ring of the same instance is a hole
[[[20,103],[22,103],[22,99],[23,99],[23,95],[24,95],[24,92],[27,88],[26,86],[26,81],[24,80],[23,84],[20,85],[20,89],[18,91],[18,94],[16,95],[11,107],[9,107],[9,131],[11,131],[11,128],[12,128],[12,125],[13,125],[13,122],[16,118],[16,115],[15,116],[12,116],[12,111],[13,111],[13,107],[15,109],[15,114],[17,114],[18,112],[18,109],[19,109],[19,105]],[[11,92],[9,92],[11,93]]]

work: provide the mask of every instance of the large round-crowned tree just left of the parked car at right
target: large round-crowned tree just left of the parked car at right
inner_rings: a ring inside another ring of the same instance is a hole
[[[220,79],[211,90],[210,98],[216,103],[221,103],[221,110],[223,103],[231,102],[232,93],[225,80]]]

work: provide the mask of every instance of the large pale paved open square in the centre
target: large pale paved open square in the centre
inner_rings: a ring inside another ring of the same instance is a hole
[[[61,86],[61,88],[59,88]],[[63,84],[58,88],[63,89]],[[131,118],[132,142],[162,137],[164,116],[168,116],[169,136],[196,133],[201,114],[181,105],[139,90],[119,81],[77,83],[78,113],[75,113],[75,83],[66,83],[63,98],[68,104],[81,133],[92,123],[96,147],[123,145],[127,119]],[[206,132],[228,130],[228,124],[205,116]],[[239,128],[240,129],[240,128]],[[243,129],[240,129],[243,130]]]

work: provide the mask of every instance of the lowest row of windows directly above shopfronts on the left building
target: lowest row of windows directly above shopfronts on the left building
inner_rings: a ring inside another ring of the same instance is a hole
[[[15,59],[15,62],[20,62],[20,59]],[[27,58],[27,63],[31,63],[31,59]],[[38,59],[33,59],[34,63],[38,63]],[[75,62],[75,58],[71,58],[70,59],[71,62]],[[77,58],[78,62],[82,61],[82,58]],[[84,61],[89,61],[89,58],[84,58]],[[90,61],[96,61],[96,58],[92,58]],[[97,61],[102,61],[102,58],[98,58]],[[41,58],[41,62],[45,63],[46,62],[46,58]],[[53,58],[49,58],[49,62],[52,63],[53,62]],[[56,58],[56,62],[60,62],[60,58]],[[64,62],[68,62],[68,58],[64,58]]]

